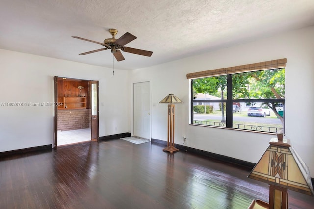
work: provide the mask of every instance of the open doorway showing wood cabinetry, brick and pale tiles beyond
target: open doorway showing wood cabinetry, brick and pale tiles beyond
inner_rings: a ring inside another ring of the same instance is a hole
[[[55,101],[57,101],[55,148],[61,145],[95,141],[95,139],[98,141],[98,81],[64,77],[55,77],[54,80]],[[95,82],[97,83],[96,90],[92,89]],[[92,98],[92,96],[95,97],[95,91],[96,99]],[[93,111],[95,109],[96,116],[92,115],[95,114]]]

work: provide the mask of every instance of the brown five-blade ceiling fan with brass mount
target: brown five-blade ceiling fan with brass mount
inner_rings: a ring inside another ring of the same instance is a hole
[[[118,33],[118,30],[117,29],[109,29],[109,32],[112,35],[112,38],[105,39],[104,43],[92,41],[92,40],[81,38],[78,36],[72,36],[73,38],[76,38],[76,39],[81,39],[84,41],[89,41],[89,42],[93,42],[93,43],[105,46],[105,48],[96,49],[93,51],[88,51],[85,53],[81,53],[79,55],[86,55],[86,54],[91,54],[91,53],[98,52],[98,51],[111,49],[111,53],[113,53],[116,60],[122,61],[122,60],[124,60],[124,57],[123,57],[121,51],[132,53],[132,54],[148,56],[148,57],[150,57],[153,54],[152,51],[145,51],[145,50],[141,50],[141,49],[137,49],[137,48],[125,47],[124,45],[128,44],[129,42],[131,42],[137,38],[136,36],[132,35],[131,33],[126,32],[123,36],[116,39],[115,35]]]

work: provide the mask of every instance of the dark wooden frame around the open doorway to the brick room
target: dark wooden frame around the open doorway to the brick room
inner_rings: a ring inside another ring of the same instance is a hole
[[[94,80],[85,80],[85,79],[78,79],[78,78],[68,78],[68,77],[61,77],[61,76],[54,76],[54,102],[58,102],[58,78],[63,79],[69,79],[69,80],[81,80],[81,81],[87,81],[89,83],[88,88],[91,91],[91,84],[92,82],[97,83],[97,139],[93,141],[99,141],[99,93],[98,93],[98,83],[99,81]],[[89,95],[90,99],[90,105],[91,108],[91,94]],[[92,117],[92,116],[91,116]],[[92,119],[92,118],[91,118]],[[91,141],[92,141],[92,127],[91,127]],[[54,149],[58,148],[58,106],[54,106]]]

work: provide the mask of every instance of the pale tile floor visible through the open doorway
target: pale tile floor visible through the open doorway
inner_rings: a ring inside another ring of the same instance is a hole
[[[58,131],[58,146],[91,140],[90,128]]]

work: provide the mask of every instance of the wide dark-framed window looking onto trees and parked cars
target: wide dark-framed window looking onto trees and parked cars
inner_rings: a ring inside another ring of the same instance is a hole
[[[193,78],[191,93],[192,124],[284,131],[285,68]]]

